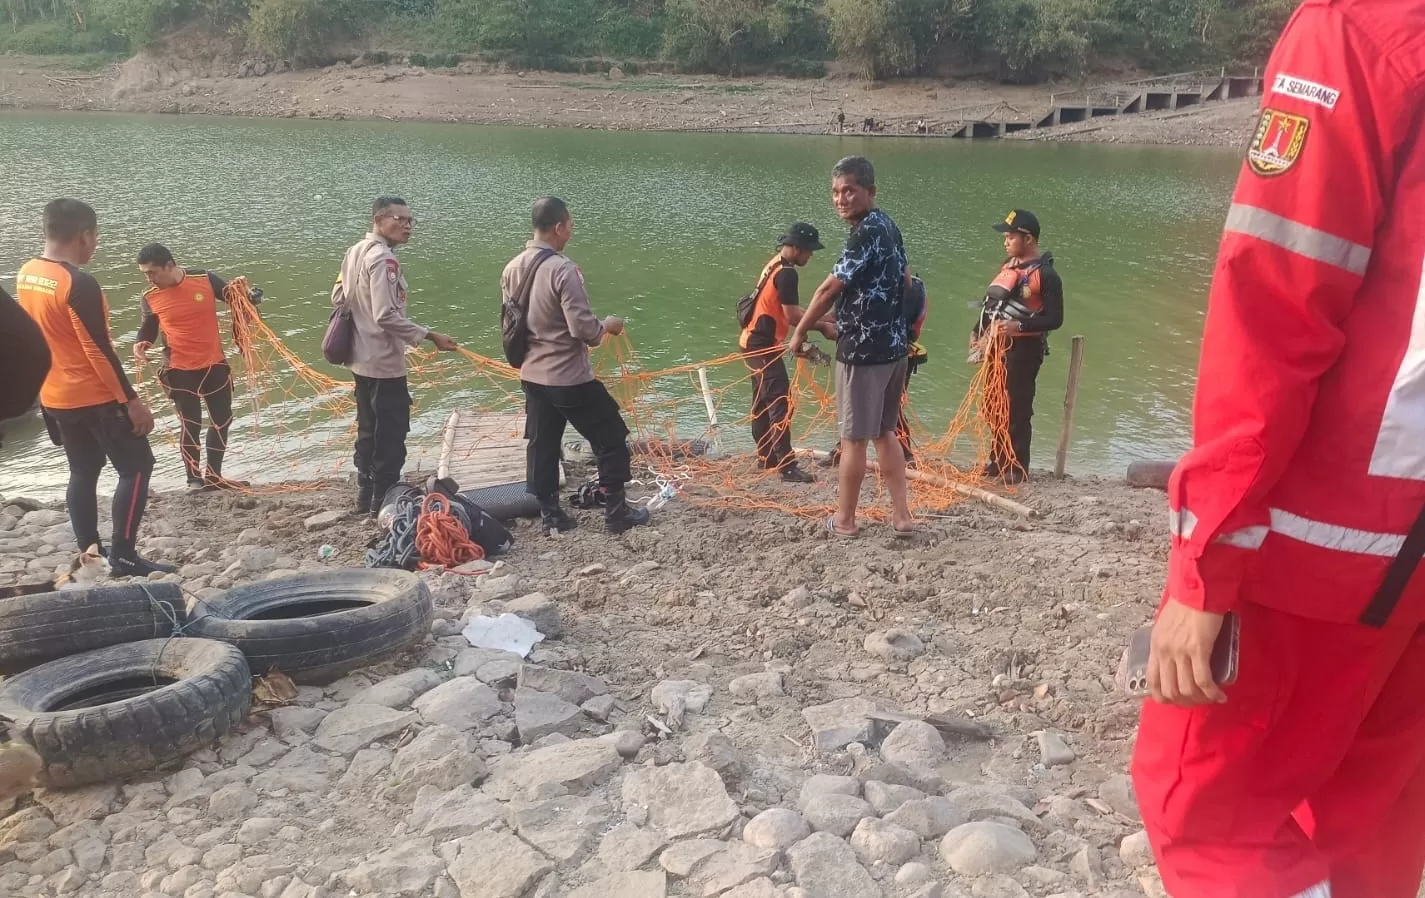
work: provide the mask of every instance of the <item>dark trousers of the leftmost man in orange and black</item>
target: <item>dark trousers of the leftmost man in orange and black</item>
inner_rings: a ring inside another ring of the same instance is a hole
[[[64,495],[70,526],[80,550],[98,539],[98,475],[105,460],[118,472],[114,487],[113,554],[133,557],[138,522],[148,506],[148,482],[154,473],[154,452],[148,438],[134,433],[128,411],[117,402],[81,409],[44,409],[50,436],[64,446],[70,463],[70,487]]]

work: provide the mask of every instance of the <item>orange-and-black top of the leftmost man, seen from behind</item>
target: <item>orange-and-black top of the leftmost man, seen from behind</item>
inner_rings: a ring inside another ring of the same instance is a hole
[[[134,399],[108,335],[108,301],[93,275],[68,262],[30,259],[16,277],[16,294],[50,346],[40,405],[81,409]]]

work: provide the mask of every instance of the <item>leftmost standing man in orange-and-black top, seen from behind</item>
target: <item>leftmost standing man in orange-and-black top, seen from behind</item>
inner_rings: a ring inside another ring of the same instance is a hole
[[[40,406],[70,463],[66,502],[80,550],[100,545],[98,475],[108,459],[118,472],[110,570],[137,577],[171,573],[172,567],[140,557],[135,546],[154,470],[148,448],[154,416],[114,353],[104,291],[80,269],[97,247],[94,210],[78,200],[56,200],[44,207],[44,255],[16,277],[20,305],[40,325],[53,359]]]

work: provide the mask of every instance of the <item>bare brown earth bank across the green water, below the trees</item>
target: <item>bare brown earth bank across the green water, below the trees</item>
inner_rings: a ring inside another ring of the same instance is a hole
[[[264,74],[254,74],[264,71]],[[881,135],[936,137],[968,120],[1017,120],[1049,105],[1053,86],[972,80],[869,84],[708,76],[510,73],[463,63],[455,70],[353,66],[268,71],[244,63],[134,57],[100,73],[43,57],[0,56],[0,108],[171,113],[322,120],[445,121],[616,131],[829,134],[874,118]],[[1109,125],[1053,130],[1053,140],[1183,145],[1245,144],[1254,101]]]

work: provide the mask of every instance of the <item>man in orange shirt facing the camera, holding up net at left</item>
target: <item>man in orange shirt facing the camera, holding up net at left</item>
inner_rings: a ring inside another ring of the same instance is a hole
[[[167,346],[158,379],[182,423],[180,449],[188,489],[231,485],[222,478],[222,456],[232,423],[232,369],[218,334],[218,301],[228,301],[224,295],[228,285],[211,271],[180,268],[162,244],[148,244],[138,251],[138,269],[152,287],[144,292],[144,322],[138,328],[134,358],[147,362],[162,331]],[[198,460],[204,403],[209,422],[207,473]]]

